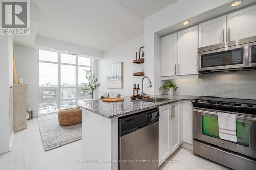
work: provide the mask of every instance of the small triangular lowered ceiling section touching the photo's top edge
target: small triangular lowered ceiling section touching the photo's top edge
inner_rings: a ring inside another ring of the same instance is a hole
[[[146,18],[178,0],[117,0],[127,8]]]

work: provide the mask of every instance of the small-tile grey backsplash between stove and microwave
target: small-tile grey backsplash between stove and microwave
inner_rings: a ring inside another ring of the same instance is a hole
[[[173,80],[175,94],[256,99],[256,71],[200,74],[199,79]]]

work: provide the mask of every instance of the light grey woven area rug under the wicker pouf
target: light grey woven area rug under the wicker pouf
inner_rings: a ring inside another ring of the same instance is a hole
[[[38,124],[45,151],[82,139],[82,123],[61,126],[58,114],[40,116]]]

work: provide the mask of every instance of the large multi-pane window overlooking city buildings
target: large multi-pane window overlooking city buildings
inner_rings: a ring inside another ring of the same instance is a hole
[[[91,58],[39,50],[39,114],[56,113],[84,102],[85,71]]]

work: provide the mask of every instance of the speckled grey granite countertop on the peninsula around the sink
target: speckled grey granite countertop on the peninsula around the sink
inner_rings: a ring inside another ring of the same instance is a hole
[[[131,100],[130,97],[124,97],[121,102],[102,102],[101,99],[87,101],[80,104],[82,109],[91,111],[106,118],[122,117],[134,114],[140,111],[156,108],[158,106],[174,103],[180,100],[192,100],[197,96],[190,95],[154,95],[151,98],[167,98],[169,100],[163,102],[145,102],[141,100]]]

